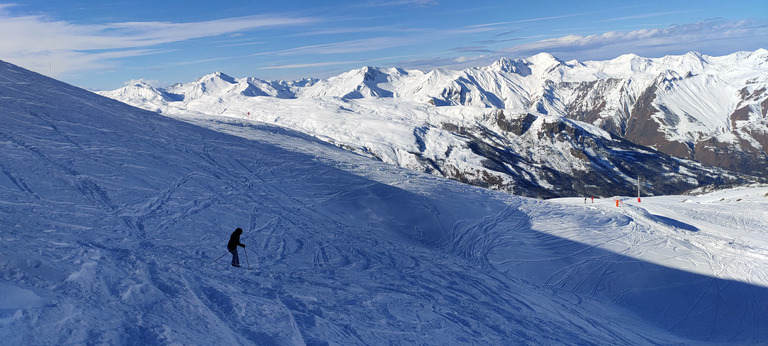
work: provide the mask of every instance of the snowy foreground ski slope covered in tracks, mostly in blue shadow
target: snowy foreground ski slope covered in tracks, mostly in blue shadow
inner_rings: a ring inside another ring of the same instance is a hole
[[[521,198],[6,63],[0,105],[2,344],[768,342],[768,187]]]

